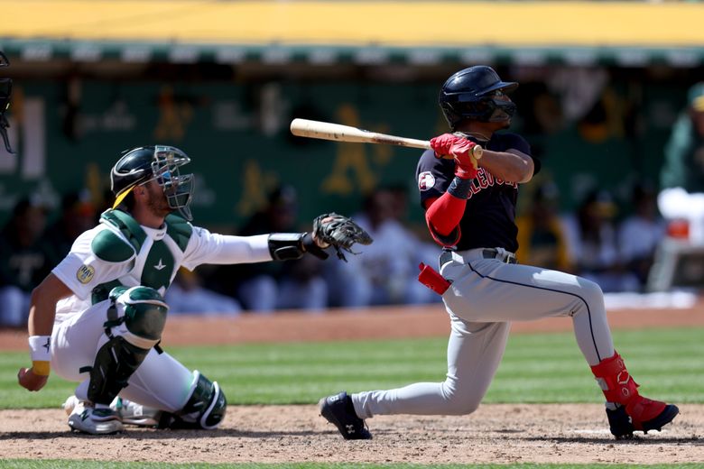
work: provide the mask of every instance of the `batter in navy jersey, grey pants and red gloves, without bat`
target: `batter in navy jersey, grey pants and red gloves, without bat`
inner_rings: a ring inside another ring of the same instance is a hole
[[[511,322],[541,317],[572,317],[616,438],[659,430],[679,412],[639,394],[614,350],[596,283],[516,263],[518,184],[540,170],[520,135],[497,133],[511,123],[516,107],[507,94],[516,87],[494,69],[476,66],[455,73],[440,90],[440,107],[453,133],[431,140],[433,150],[422,154],[416,176],[427,225],[443,246],[441,276],[426,270],[421,279],[442,295],[449,314],[447,378],[389,391],[343,391],[320,400],[320,414],[347,439],[371,438],[364,419],[375,415],[473,412],[501,362]],[[477,144],[485,149],[478,161],[472,152]]]

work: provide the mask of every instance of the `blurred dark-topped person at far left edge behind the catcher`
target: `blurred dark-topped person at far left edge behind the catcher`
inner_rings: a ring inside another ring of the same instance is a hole
[[[25,326],[32,289],[51,271],[51,248],[42,240],[47,210],[22,198],[0,236],[0,326]]]

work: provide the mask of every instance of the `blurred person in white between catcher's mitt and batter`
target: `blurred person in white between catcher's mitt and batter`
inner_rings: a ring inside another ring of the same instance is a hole
[[[422,304],[438,300],[417,279],[418,264],[427,248],[403,226],[398,191],[376,189],[366,197],[363,211],[353,219],[374,238],[374,244],[358,246],[363,255],[347,256],[348,262],[329,265],[331,303],[345,308],[393,304]],[[434,264],[438,248],[434,249]],[[426,256],[427,257],[427,256]]]

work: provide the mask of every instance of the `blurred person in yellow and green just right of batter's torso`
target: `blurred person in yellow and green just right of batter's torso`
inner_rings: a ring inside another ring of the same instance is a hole
[[[542,183],[533,193],[527,213],[516,218],[518,261],[557,271],[574,271],[567,235],[558,215],[559,193],[552,182]]]

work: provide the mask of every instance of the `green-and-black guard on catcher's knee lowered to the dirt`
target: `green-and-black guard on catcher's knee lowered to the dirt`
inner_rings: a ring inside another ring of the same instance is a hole
[[[200,374],[193,372],[195,380],[192,384],[189,400],[178,412],[164,412],[160,428],[203,428],[211,430],[218,428],[225,418],[227,400],[218,382],[211,382]]]

